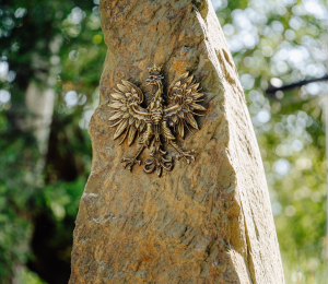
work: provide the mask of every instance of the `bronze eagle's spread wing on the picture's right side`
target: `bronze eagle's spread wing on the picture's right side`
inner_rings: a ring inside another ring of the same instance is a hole
[[[194,75],[188,76],[188,72],[175,80],[168,87],[167,97],[173,102],[164,109],[164,120],[169,126],[177,129],[178,134],[184,138],[185,126],[194,133],[192,129],[198,130],[197,121],[194,116],[201,116],[196,113],[206,110],[198,103],[203,100],[203,94],[199,93],[199,83],[194,81]],[[190,128],[191,127],[191,128]]]

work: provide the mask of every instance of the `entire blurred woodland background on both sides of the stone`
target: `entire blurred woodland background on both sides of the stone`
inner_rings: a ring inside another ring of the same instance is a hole
[[[286,283],[326,283],[325,1],[212,3],[258,138]],[[98,0],[0,0],[1,284],[69,280],[105,54]]]

